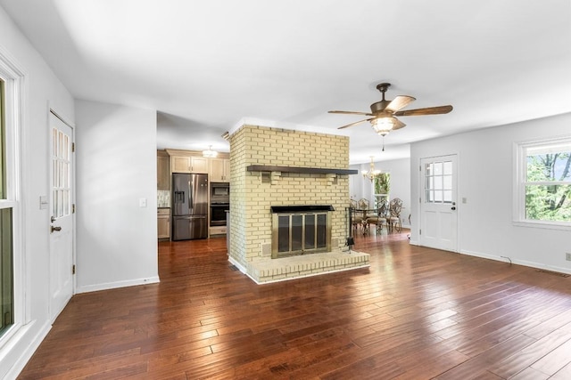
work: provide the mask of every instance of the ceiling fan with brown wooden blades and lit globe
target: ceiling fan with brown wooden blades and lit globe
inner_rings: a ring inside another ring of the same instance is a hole
[[[358,125],[365,121],[370,121],[375,132],[381,136],[387,135],[389,132],[396,129],[401,129],[406,124],[396,118],[397,116],[419,116],[419,115],[440,115],[447,114],[452,110],[452,106],[428,107],[426,109],[409,109],[400,110],[416,101],[416,98],[407,95],[399,95],[393,101],[385,101],[386,90],[391,86],[390,83],[381,83],[377,85],[377,90],[383,94],[383,100],[371,104],[370,112],[356,112],[356,111],[329,111],[333,114],[347,114],[347,115],[364,115],[368,118],[356,121],[354,123],[340,126],[338,129],[347,128],[352,125]]]

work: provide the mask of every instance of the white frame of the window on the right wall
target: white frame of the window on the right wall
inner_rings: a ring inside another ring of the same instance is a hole
[[[571,222],[541,221],[526,219],[525,187],[527,182],[527,150],[548,148],[551,145],[571,144],[571,135],[552,137],[549,139],[519,141],[514,143],[514,196],[513,223],[520,227],[544,228],[550,230],[571,230]],[[534,182],[535,183],[535,182]],[[550,182],[550,184],[571,184],[570,182]]]

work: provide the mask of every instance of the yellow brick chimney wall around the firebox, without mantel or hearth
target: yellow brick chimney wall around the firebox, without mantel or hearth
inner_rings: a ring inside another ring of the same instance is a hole
[[[270,255],[270,206],[332,205],[332,248],[347,237],[345,207],[349,206],[348,175],[335,182],[325,174],[282,173],[275,182],[262,181],[247,166],[302,166],[347,169],[349,138],[259,125],[243,125],[230,136],[230,247],[228,255],[246,267]]]

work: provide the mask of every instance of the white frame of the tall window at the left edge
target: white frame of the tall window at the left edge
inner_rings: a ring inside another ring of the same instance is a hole
[[[4,80],[4,158],[6,194],[0,208],[12,208],[12,292],[13,324],[0,336],[0,356],[18,332],[29,323],[30,304],[26,297],[21,195],[21,134],[27,77],[19,65],[0,49],[0,77]]]

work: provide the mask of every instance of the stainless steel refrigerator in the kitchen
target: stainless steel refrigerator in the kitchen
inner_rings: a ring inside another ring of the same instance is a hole
[[[172,174],[172,239],[208,237],[208,174]]]

